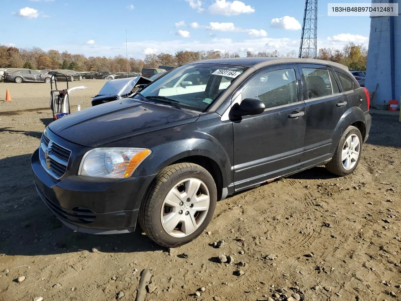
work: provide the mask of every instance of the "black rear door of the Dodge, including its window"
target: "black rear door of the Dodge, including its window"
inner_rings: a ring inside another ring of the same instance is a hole
[[[299,64],[308,117],[302,168],[331,158],[334,129],[348,110],[345,93],[331,67]],[[342,129],[344,130],[344,129]]]

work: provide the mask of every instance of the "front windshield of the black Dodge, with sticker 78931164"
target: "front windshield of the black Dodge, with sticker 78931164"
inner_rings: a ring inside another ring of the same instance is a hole
[[[223,64],[183,65],[148,85],[140,94],[150,100],[154,96],[168,98],[182,108],[203,112],[246,69]]]

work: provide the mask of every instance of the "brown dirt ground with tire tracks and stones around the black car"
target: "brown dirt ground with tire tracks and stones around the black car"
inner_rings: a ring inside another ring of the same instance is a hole
[[[103,84],[71,83],[88,87],[71,95],[73,111],[90,106]],[[6,89],[13,101],[0,102],[0,300],[135,300],[144,268],[154,289],[146,300],[401,300],[397,116],[373,116],[354,174],[315,167],[239,193],[217,204],[207,232],[167,250],[139,227],[94,236],[62,226],[30,169],[51,120],[50,87],[0,83],[1,98]],[[217,263],[222,253],[231,263]]]

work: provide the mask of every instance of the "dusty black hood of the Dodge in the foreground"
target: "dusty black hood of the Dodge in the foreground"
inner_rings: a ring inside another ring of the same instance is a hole
[[[97,147],[138,134],[190,123],[199,114],[124,98],[64,116],[49,124],[49,129],[71,142]]]

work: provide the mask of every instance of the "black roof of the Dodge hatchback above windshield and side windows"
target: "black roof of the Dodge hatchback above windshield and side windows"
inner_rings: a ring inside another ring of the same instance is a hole
[[[281,58],[281,57],[231,57],[228,59],[208,59],[205,61],[195,61],[188,64],[223,64],[223,65],[235,65],[242,67],[266,67],[275,64],[291,64],[291,63],[307,63],[307,64],[324,64],[331,67],[340,68],[348,71],[348,67],[331,62],[324,61],[321,59],[298,59],[298,58]]]

